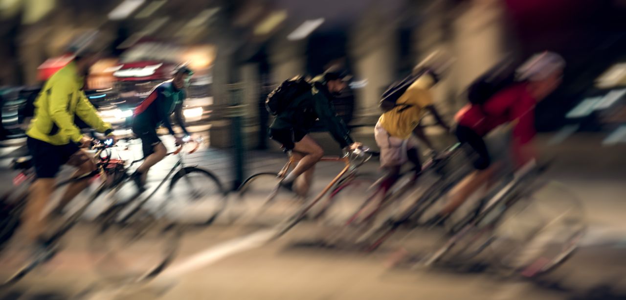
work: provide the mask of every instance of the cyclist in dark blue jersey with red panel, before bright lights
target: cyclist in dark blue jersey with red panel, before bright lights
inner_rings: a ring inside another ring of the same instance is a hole
[[[193,71],[187,65],[179,65],[173,71],[171,80],[155,86],[133,113],[133,133],[141,138],[143,157],[145,160],[133,173],[135,184],[143,190],[148,170],[160,162],[167,155],[167,150],[156,135],[156,128],[165,126],[176,140],[176,145],[183,143],[183,136],[176,135],[172,129],[170,115],[174,113],[176,122],[185,133],[189,135],[183,120],[183,100],[185,100],[185,88],[190,85]]]

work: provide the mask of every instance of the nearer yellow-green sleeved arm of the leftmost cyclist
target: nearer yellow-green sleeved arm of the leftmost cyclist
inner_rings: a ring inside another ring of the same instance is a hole
[[[69,83],[58,81],[49,90],[49,113],[52,121],[59,127],[59,135],[69,137],[72,141],[80,142],[83,134],[76,127],[73,118],[68,112],[69,96],[79,91],[73,90]]]

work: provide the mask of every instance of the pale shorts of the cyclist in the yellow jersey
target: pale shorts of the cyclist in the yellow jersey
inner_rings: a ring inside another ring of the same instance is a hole
[[[418,147],[413,135],[405,140],[391,137],[380,123],[376,123],[374,127],[374,138],[376,145],[381,149],[381,167],[403,165],[409,160],[406,152]]]

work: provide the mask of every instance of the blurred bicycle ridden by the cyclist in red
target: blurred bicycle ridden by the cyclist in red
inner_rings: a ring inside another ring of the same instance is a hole
[[[506,275],[535,277],[562,264],[577,249],[586,224],[582,204],[572,194],[558,185],[537,180],[546,168],[536,165],[534,160],[526,163],[484,197],[459,222],[455,234],[444,239],[442,246],[414,267],[459,266],[487,248],[491,250],[489,261]],[[557,189],[552,192],[560,198],[538,201],[538,194],[547,189]],[[567,198],[562,198],[563,195]],[[545,207],[555,204],[557,207]],[[558,210],[556,214],[550,211],[554,209]],[[536,245],[545,241],[550,243]]]

